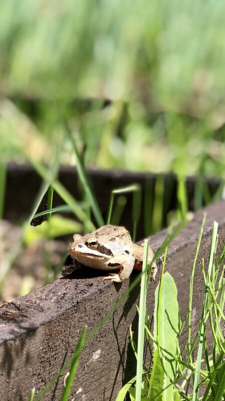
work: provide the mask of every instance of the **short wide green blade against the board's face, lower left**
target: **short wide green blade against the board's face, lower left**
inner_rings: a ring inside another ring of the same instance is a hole
[[[69,399],[69,393],[70,393],[71,386],[73,384],[73,380],[74,380],[74,377],[75,377],[75,374],[76,374],[76,370],[77,370],[77,366],[78,366],[78,362],[79,362],[79,357],[80,357],[81,351],[82,351],[82,349],[84,347],[85,334],[86,334],[86,327],[84,327],[83,330],[81,331],[78,344],[76,346],[76,349],[74,351],[74,354],[73,354],[73,357],[72,357],[72,360],[71,360],[71,367],[70,367],[70,370],[69,370],[69,376],[68,376],[68,378],[66,380],[66,385],[64,387],[64,390],[63,390],[63,393],[62,393],[60,401],[68,401],[68,399]]]

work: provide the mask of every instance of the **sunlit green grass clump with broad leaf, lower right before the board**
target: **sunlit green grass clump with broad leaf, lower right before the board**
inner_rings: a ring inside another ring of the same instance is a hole
[[[164,274],[166,252],[162,277],[155,294],[154,333],[152,334],[148,324],[145,326],[147,345],[151,338],[154,345],[154,357],[151,369],[148,370],[143,362],[142,350],[137,352],[138,362],[137,376],[119,391],[116,401],[125,399],[129,391],[131,401],[140,399],[153,400],[221,400],[225,396],[225,338],[221,330],[221,322],[225,319],[225,278],[223,259],[225,247],[215,262],[218,245],[218,224],[214,222],[209,265],[204,269],[202,260],[203,277],[205,280],[205,292],[202,299],[202,316],[197,333],[193,333],[192,327],[192,296],[193,278],[195,274],[196,260],[201,244],[205,219],[200,231],[196,256],[193,265],[190,285],[189,312],[184,322],[180,322],[179,305],[177,302],[177,289],[173,278],[169,273]],[[145,315],[145,307],[140,308],[139,319],[142,321]],[[145,321],[148,319],[145,317]],[[185,348],[180,350],[179,340],[184,326],[188,324],[188,338],[184,338]],[[208,328],[207,328],[208,327]],[[192,335],[191,335],[192,334]],[[142,335],[142,332],[139,332]],[[213,340],[209,348],[208,340]],[[207,340],[208,339],[208,340]],[[151,345],[150,345],[151,347]],[[135,348],[135,345],[134,345]],[[188,352],[185,356],[184,350]],[[197,350],[197,354],[196,351]],[[152,350],[150,348],[150,353]],[[196,357],[194,357],[196,354]],[[142,362],[140,363],[139,358]],[[140,379],[142,376],[142,389]],[[193,378],[193,380],[192,380]],[[132,387],[136,382],[136,392]],[[200,395],[200,392],[202,395]],[[142,396],[142,398],[141,398]]]

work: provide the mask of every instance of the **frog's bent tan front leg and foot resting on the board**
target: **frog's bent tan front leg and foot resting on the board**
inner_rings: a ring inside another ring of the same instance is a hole
[[[135,258],[133,255],[129,255],[126,252],[120,252],[114,255],[107,262],[107,269],[116,268],[120,269],[119,273],[111,274],[110,276],[103,277],[103,280],[112,280],[116,283],[122,283],[130,277],[130,274],[134,267]]]

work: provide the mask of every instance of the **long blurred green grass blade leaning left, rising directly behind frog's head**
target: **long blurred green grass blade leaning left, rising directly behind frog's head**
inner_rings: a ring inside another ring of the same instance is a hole
[[[90,185],[89,185],[89,182],[88,182],[88,178],[87,178],[87,173],[86,173],[86,171],[84,169],[83,163],[82,163],[81,158],[79,156],[79,153],[77,151],[76,142],[74,141],[73,136],[71,134],[71,131],[70,131],[70,129],[68,127],[68,124],[66,122],[64,122],[64,126],[65,126],[66,133],[67,133],[67,135],[68,135],[68,137],[70,139],[70,142],[71,142],[71,144],[73,146],[73,151],[74,151],[74,153],[76,155],[77,172],[78,172],[80,181],[82,183],[83,189],[85,191],[87,200],[88,200],[88,202],[89,202],[89,204],[90,204],[90,206],[92,208],[92,211],[93,211],[94,217],[96,219],[96,222],[98,223],[99,226],[103,226],[105,223],[104,223],[104,220],[102,218],[102,215],[101,215],[97,200],[96,200],[93,192],[91,191],[91,188],[90,188]]]

